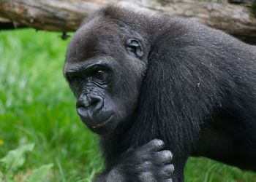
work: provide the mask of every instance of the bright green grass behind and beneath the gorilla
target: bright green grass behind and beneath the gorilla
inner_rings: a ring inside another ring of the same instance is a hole
[[[35,143],[26,175],[53,163],[52,181],[91,181],[102,167],[97,135],[83,126],[62,66],[68,41],[31,29],[0,32],[0,158]],[[253,173],[209,159],[190,159],[186,181],[256,181]]]

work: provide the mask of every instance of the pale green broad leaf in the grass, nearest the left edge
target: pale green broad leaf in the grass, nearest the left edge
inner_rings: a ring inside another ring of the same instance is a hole
[[[21,167],[25,162],[24,154],[34,149],[34,143],[20,146],[18,149],[8,151],[7,155],[0,159],[4,163],[7,170],[15,170]]]

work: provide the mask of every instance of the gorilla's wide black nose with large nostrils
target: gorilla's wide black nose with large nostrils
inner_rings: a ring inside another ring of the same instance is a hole
[[[98,95],[81,96],[77,102],[77,111],[80,116],[86,117],[97,111],[103,106],[103,98]]]

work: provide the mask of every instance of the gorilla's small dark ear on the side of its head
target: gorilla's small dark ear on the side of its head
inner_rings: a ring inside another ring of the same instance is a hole
[[[128,39],[125,43],[125,49],[127,50],[127,52],[135,55],[138,58],[141,58],[143,56],[142,46],[140,44],[140,41],[138,41],[137,39]]]

